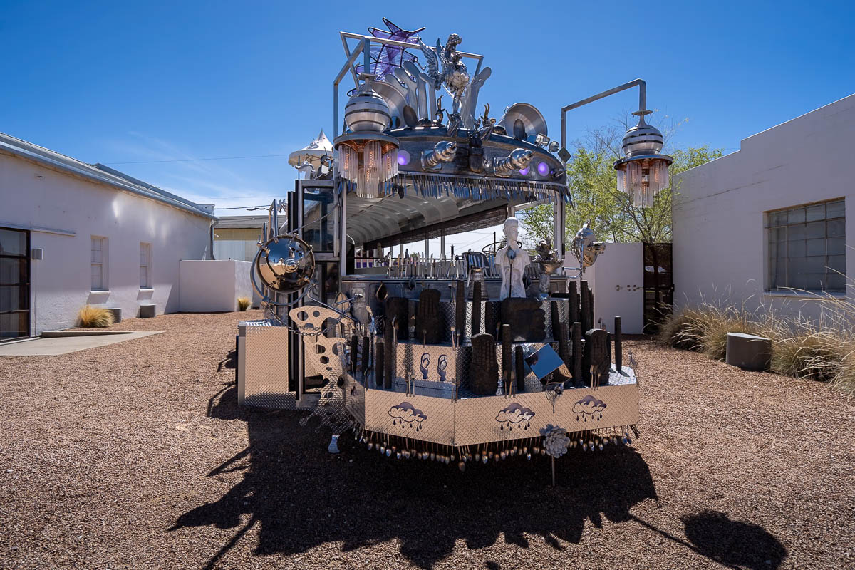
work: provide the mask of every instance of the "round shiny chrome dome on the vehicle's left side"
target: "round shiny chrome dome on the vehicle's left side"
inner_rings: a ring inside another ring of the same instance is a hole
[[[268,289],[296,293],[309,285],[315,274],[315,254],[296,235],[276,236],[259,247],[255,265]]]

